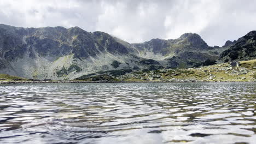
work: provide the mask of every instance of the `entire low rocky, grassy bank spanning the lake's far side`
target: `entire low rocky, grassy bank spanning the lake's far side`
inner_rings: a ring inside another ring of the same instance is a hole
[[[119,73],[118,73],[119,74]],[[256,59],[187,69],[89,74],[74,80],[34,80],[0,74],[0,83],[256,82]]]

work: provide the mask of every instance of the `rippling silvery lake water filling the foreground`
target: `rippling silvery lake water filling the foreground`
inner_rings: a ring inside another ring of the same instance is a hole
[[[256,83],[0,85],[0,143],[255,143]]]

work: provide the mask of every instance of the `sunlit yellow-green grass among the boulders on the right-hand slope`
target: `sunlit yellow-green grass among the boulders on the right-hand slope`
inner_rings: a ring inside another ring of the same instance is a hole
[[[190,69],[173,69],[168,70],[167,73],[160,73],[159,71],[154,71],[155,74],[161,75],[162,79],[195,79],[198,81],[249,81],[252,78],[256,79],[256,59],[251,61],[241,61],[239,68],[232,68],[231,70],[226,70],[230,68],[230,63],[210,65],[200,68],[190,68]],[[247,69],[247,74],[237,75],[241,68]],[[234,73],[234,71],[237,71]],[[215,76],[212,80],[209,79],[210,75]],[[126,81],[144,81],[140,79],[129,78]],[[155,79],[153,81],[160,81],[160,79]]]

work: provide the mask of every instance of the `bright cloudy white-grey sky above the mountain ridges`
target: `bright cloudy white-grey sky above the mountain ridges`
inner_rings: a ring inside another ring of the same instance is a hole
[[[78,26],[130,43],[198,33],[208,45],[224,45],[256,30],[256,1],[0,0],[0,23],[21,27]]]

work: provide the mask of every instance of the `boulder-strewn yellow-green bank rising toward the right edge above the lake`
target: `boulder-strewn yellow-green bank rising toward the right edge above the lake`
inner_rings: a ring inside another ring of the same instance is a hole
[[[125,81],[255,81],[256,59],[239,63],[240,67],[231,67],[230,63],[222,63],[188,69],[144,69],[124,75],[122,79]]]

